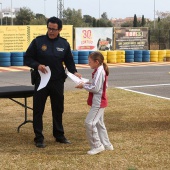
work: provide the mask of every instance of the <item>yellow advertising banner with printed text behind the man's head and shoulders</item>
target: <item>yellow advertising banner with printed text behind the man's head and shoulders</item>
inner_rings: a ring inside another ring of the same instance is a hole
[[[0,26],[0,52],[24,52],[35,37],[46,33],[46,25]],[[60,36],[73,49],[73,26],[63,25]]]

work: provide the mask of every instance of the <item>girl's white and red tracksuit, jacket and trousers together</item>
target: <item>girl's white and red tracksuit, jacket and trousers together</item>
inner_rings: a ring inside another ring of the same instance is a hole
[[[92,78],[92,83],[84,84],[83,87],[89,91],[87,103],[91,106],[85,120],[86,135],[91,149],[94,149],[101,145],[111,145],[111,143],[104,124],[104,109],[107,106],[107,76],[103,65],[94,70]]]

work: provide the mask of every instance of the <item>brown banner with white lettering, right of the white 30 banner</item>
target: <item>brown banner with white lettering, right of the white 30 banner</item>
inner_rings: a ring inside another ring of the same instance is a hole
[[[116,50],[148,50],[147,27],[114,28]]]

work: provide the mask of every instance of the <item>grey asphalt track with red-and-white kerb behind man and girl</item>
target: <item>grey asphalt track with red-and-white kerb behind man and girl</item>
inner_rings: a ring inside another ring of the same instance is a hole
[[[76,65],[83,77],[91,79],[92,70],[88,65]],[[170,62],[116,63],[108,64],[109,87],[116,87],[142,95],[170,99]],[[0,67],[0,86],[31,85],[30,68]],[[74,82],[66,79],[65,90],[80,90]]]

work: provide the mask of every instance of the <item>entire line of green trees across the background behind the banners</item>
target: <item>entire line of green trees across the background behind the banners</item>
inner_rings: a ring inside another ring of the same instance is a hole
[[[145,19],[144,15],[138,19],[134,14],[133,21],[124,22],[121,27],[148,27],[150,43],[160,44],[161,48],[170,48],[170,12],[157,11],[158,18],[155,21]],[[23,7],[16,13],[16,17],[4,17],[2,25],[46,25],[46,18],[43,14],[34,14],[30,8]],[[73,27],[114,27],[113,22],[108,19],[107,13],[101,14],[96,19],[90,15],[82,15],[81,9],[75,10],[67,8],[63,10],[63,25],[73,25]]]

